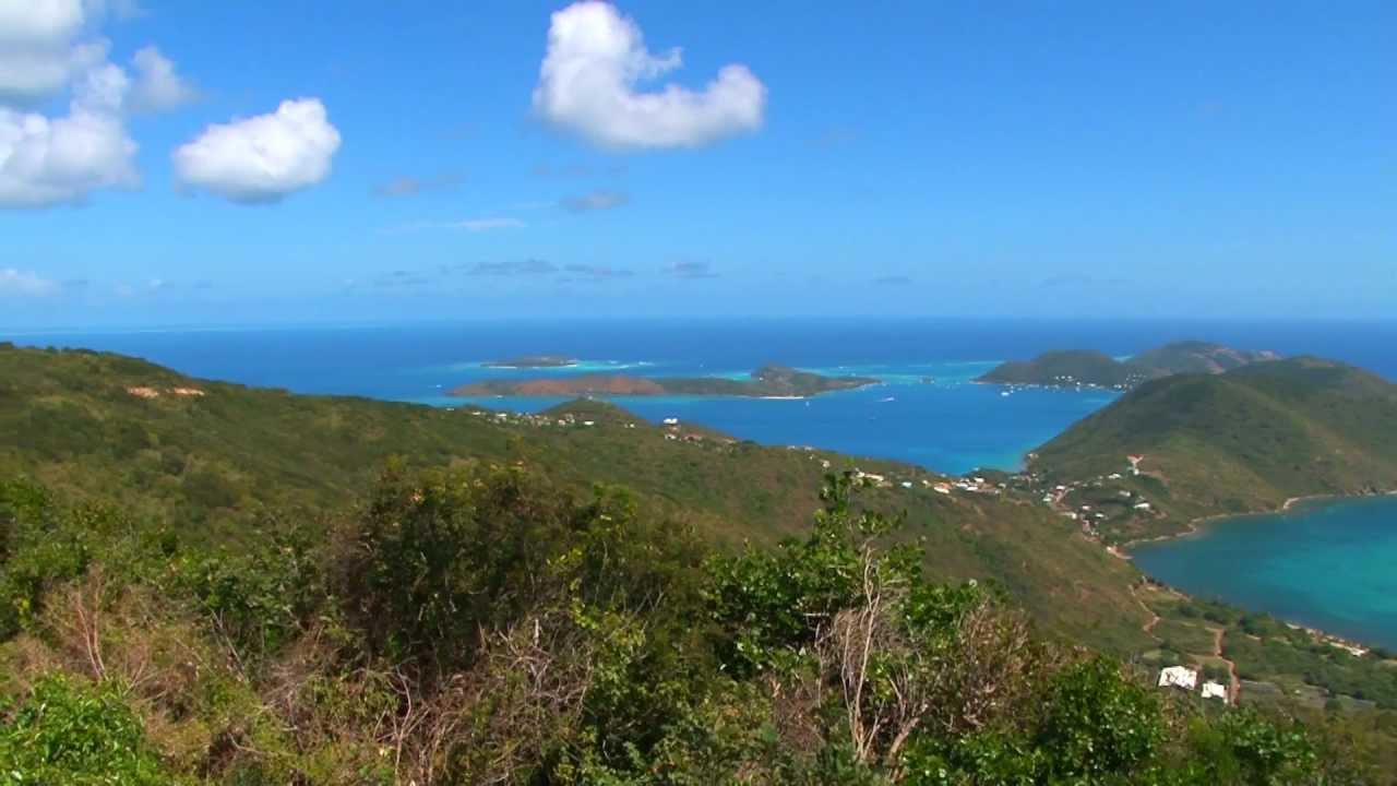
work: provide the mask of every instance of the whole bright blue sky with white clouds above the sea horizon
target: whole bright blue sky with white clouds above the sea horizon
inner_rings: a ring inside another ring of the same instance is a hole
[[[1393,3],[0,0],[21,56],[0,327],[1397,312]]]

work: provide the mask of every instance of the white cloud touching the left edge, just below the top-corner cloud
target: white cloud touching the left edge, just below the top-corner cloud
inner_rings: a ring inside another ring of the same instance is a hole
[[[106,64],[74,87],[61,117],[0,106],[0,207],[46,207],[138,185],[136,143],[119,113],[129,87],[126,73]]]

